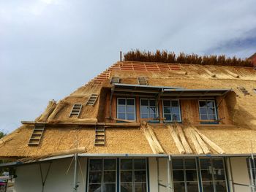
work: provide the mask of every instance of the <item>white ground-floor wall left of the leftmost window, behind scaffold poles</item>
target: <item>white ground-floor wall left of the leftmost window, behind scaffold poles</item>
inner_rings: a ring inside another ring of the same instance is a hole
[[[86,158],[79,158],[80,166],[83,170],[83,176],[78,164],[78,191],[84,192],[86,190]],[[72,158],[65,158],[53,161],[50,166],[48,178],[45,182],[45,192],[65,192],[72,191],[73,178],[74,178],[74,161],[66,174],[69,164]],[[42,174],[45,178],[45,174],[48,170],[48,163],[42,163]],[[42,191],[41,174],[39,164],[31,164],[26,166],[18,166],[16,169],[18,177],[15,180],[15,192],[35,192]]]

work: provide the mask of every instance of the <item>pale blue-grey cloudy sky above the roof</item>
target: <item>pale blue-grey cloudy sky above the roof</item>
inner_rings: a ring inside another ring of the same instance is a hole
[[[255,0],[0,0],[0,131],[34,120],[119,60],[168,50],[247,58]]]

